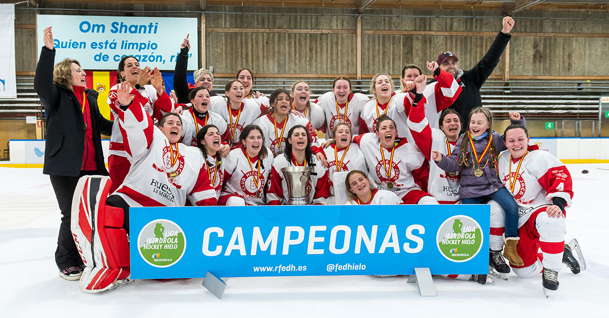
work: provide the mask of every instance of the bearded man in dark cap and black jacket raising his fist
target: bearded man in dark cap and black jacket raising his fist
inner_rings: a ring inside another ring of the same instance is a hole
[[[457,55],[452,54],[452,52],[447,51],[438,56],[437,63],[440,65],[440,69],[454,75],[462,89],[461,94],[450,107],[459,112],[459,116],[463,119],[462,132],[467,128],[466,123],[470,120],[471,109],[482,106],[480,88],[491,75],[495,66],[499,64],[501,54],[512,37],[510,30],[512,30],[513,26],[514,19],[510,16],[503,18],[503,29],[496,36],[487,54],[469,71],[463,71],[457,67],[459,58],[457,58]]]

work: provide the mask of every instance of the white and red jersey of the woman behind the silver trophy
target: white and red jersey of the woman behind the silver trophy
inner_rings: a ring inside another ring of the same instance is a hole
[[[328,170],[323,167],[321,162],[313,156],[315,166],[309,176],[309,181],[306,185],[307,202],[310,204],[328,204],[330,196]],[[279,205],[286,204],[288,190],[287,182],[283,178],[281,168],[292,167],[297,165],[294,156],[290,161],[287,161],[286,156],[281,154],[273,161],[273,168],[269,176],[269,185],[267,188],[267,204]],[[306,164],[305,164],[306,165]]]

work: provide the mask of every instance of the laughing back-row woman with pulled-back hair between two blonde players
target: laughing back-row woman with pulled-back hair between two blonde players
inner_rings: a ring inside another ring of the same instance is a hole
[[[359,131],[359,116],[368,100],[368,96],[364,94],[353,94],[349,78],[335,78],[332,91],[325,92],[315,100],[326,114],[327,137],[332,137],[334,126],[338,123],[348,123],[351,125],[351,131]]]

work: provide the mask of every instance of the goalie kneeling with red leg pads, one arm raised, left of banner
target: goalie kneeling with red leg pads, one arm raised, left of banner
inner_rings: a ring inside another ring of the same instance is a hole
[[[125,181],[106,199],[110,179],[83,177],[72,201],[72,235],[86,266],[79,288],[85,292],[128,282],[129,207],[184,206],[187,198],[197,206],[216,204],[200,150],[178,143],[180,117],[166,114],[156,129],[144,108],[131,103],[129,91],[129,85],[121,83],[112,105],[133,158]]]

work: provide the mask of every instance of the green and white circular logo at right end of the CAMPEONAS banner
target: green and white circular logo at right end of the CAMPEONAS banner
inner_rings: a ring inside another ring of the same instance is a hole
[[[448,260],[461,263],[480,252],[483,239],[482,229],[476,220],[456,215],[446,219],[438,229],[438,250]]]

